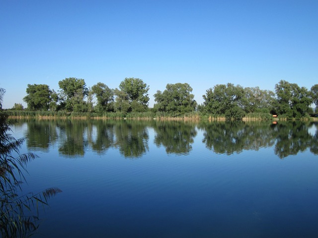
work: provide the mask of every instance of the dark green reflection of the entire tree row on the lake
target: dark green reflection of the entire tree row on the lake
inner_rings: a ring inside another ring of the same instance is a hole
[[[22,122],[17,122],[22,123]],[[310,121],[191,121],[161,120],[27,120],[27,147],[49,150],[57,145],[68,157],[83,156],[91,148],[104,154],[109,148],[127,158],[142,157],[149,151],[149,130],[156,132],[154,143],[167,154],[187,155],[192,150],[197,128],[202,142],[218,154],[273,147],[279,158],[309,149],[318,154],[318,123]]]

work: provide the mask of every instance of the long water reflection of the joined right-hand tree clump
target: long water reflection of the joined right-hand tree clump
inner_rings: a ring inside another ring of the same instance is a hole
[[[205,130],[202,142],[216,153],[231,155],[274,146],[275,154],[284,158],[307,148],[317,154],[318,132],[314,136],[309,133],[312,125],[303,121],[279,121],[276,125],[266,121],[201,121],[199,128]]]

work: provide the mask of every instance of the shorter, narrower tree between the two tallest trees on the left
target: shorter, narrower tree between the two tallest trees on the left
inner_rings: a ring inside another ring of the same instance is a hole
[[[91,90],[97,99],[97,112],[109,112],[113,110],[114,90],[110,89],[106,84],[101,82],[93,85]]]

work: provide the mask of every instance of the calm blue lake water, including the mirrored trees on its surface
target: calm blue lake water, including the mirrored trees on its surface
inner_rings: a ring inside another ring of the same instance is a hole
[[[19,120],[35,237],[318,237],[318,123]]]

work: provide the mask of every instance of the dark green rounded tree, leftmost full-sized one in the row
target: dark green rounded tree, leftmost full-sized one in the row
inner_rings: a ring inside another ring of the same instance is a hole
[[[29,110],[48,110],[52,102],[52,91],[46,84],[28,84],[27,95],[23,101],[27,103]]]

